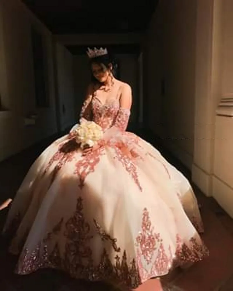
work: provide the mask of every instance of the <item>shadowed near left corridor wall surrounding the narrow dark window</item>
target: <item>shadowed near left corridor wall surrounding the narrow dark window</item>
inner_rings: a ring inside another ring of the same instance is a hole
[[[1,95],[9,111],[0,111],[0,160],[56,132],[52,35],[18,0],[0,2]],[[35,109],[31,24],[43,34],[49,76],[50,108]],[[25,127],[24,117],[38,112],[36,124]]]

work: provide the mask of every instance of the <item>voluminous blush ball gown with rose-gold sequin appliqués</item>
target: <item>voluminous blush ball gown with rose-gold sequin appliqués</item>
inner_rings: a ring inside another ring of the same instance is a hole
[[[14,232],[18,274],[49,267],[135,288],[208,255],[189,182],[126,132],[129,116],[118,99],[93,96],[81,117],[103,128],[102,145],[82,156],[71,131],[31,166],[3,230]]]

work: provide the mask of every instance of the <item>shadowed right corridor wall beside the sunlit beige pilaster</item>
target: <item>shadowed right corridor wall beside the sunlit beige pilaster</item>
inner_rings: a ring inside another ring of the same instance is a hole
[[[196,0],[161,0],[148,31],[150,127],[191,168],[194,139]],[[165,96],[161,81],[165,80]]]

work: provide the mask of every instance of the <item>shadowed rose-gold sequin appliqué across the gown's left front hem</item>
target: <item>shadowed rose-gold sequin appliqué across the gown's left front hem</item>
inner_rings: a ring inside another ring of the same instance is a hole
[[[94,264],[92,250],[89,246],[93,235],[90,224],[85,220],[83,214],[82,198],[77,199],[75,213],[63,223],[61,219],[57,225],[49,232],[34,250],[29,252],[25,248],[17,265],[17,273],[28,274],[40,268],[62,269],[74,278],[83,278],[86,280],[113,280],[124,283],[130,288],[137,288],[141,284],[139,270],[134,259],[127,262],[126,251],[122,255],[117,246],[117,239],[112,239],[101,229],[96,221],[96,233],[100,235],[103,241],[109,241],[112,245],[110,253],[116,253],[113,261],[109,258],[109,253],[103,248],[100,255],[100,261]],[[64,231],[62,228],[64,226]],[[66,238],[64,251],[61,252],[56,235]],[[55,241],[53,249],[48,251],[48,244]]]

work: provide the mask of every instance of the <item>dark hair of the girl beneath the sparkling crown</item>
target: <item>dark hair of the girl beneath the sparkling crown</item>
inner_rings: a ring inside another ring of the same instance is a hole
[[[103,56],[97,56],[96,58],[91,58],[90,59],[90,66],[93,63],[100,65],[100,66],[103,64],[108,69],[110,69],[110,66],[112,65],[111,72],[115,78],[119,79],[118,64],[117,64],[117,61],[115,61],[115,59],[113,58],[113,56],[111,54],[108,53],[108,54],[105,54]],[[93,76],[92,72],[91,72],[91,81],[93,83],[99,83],[99,81]]]

